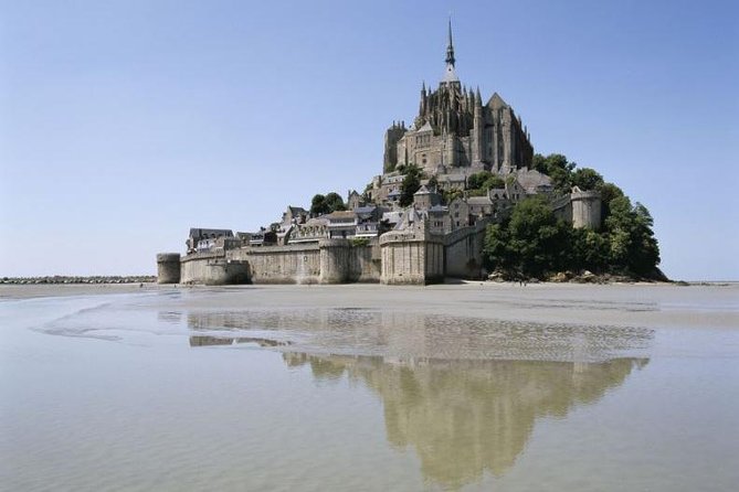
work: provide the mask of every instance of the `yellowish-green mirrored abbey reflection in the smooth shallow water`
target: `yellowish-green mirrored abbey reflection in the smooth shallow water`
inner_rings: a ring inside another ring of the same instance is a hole
[[[387,437],[413,447],[424,478],[456,489],[503,475],[529,439],[537,418],[563,417],[623,384],[646,359],[605,363],[435,361],[388,363],[382,357],[283,355],[308,364],[316,378],[346,374],[376,392],[384,405]]]

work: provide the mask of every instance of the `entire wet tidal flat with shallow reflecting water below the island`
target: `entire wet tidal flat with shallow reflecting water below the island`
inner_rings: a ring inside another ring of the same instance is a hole
[[[736,284],[33,289],[2,490],[739,483]]]

